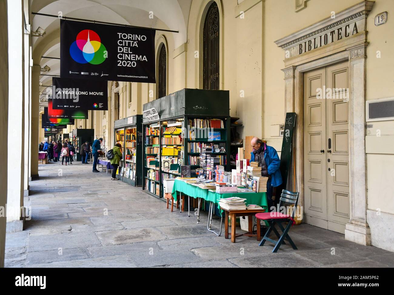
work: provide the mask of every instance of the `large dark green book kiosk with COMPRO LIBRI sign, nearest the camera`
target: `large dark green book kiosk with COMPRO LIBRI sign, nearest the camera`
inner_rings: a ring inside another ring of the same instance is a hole
[[[143,118],[145,191],[163,197],[164,179],[181,176],[181,170],[189,177],[198,176],[200,154],[207,146],[213,149],[212,163],[231,171],[227,161],[230,159],[229,91],[182,89],[143,106],[149,114],[152,109],[158,115],[151,121],[152,117]],[[158,171],[158,178],[149,177],[151,169]]]

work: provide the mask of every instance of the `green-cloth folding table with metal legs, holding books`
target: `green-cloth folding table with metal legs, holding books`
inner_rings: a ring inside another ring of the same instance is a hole
[[[245,202],[246,204],[255,204],[261,206],[266,212],[268,208],[268,203],[267,203],[267,195],[266,193],[255,193],[255,192],[240,192],[240,193],[216,193],[209,191],[208,189],[202,189],[201,187],[189,184],[187,182],[184,182],[180,179],[175,179],[174,181],[174,186],[172,189],[172,196],[175,201],[178,199],[177,193],[182,193],[184,195],[187,195],[188,197],[192,198],[201,198],[204,200],[207,200],[210,202],[210,208],[208,210],[208,230],[210,232],[214,232],[210,230],[210,223],[212,219],[212,212],[214,211],[213,204],[217,204],[217,208],[220,209],[219,207],[219,199],[222,198],[230,198],[230,197],[240,197],[243,199],[246,199]],[[190,202],[189,202],[190,204]],[[198,210],[199,211],[199,210]],[[223,218],[223,211],[221,210],[221,216]],[[251,210],[250,210],[251,211]],[[258,211],[254,210],[253,212]],[[258,212],[255,212],[258,213]],[[190,215],[189,215],[190,216]],[[199,216],[197,217],[197,221],[199,221]],[[221,228],[220,228],[220,233],[217,234],[214,232],[217,236],[220,236],[221,233]]]

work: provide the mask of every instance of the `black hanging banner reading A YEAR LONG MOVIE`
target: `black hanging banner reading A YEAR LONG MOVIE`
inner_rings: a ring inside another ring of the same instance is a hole
[[[108,84],[72,78],[52,78],[52,108],[108,110]]]

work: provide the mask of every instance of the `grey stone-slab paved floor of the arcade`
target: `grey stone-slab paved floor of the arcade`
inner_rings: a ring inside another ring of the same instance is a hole
[[[39,175],[25,199],[31,220],[7,233],[6,267],[394,267],[394,253],[308,224],[290,230],[299,250],[274,254],[251,237],[230,243],[208,232],[206,212],[197,224],[91,165],[39,165]]]

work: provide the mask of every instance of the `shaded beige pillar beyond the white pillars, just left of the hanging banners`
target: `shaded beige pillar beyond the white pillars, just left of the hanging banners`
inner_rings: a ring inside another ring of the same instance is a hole
[[[33,63],[32,69],[32,114],[30,121],[31,128],[31,157],[30,157],[30,178],[29,180],[38,179],[38,132],[39,128],[39,81],[40,81],[40,66],[38,63]]]

